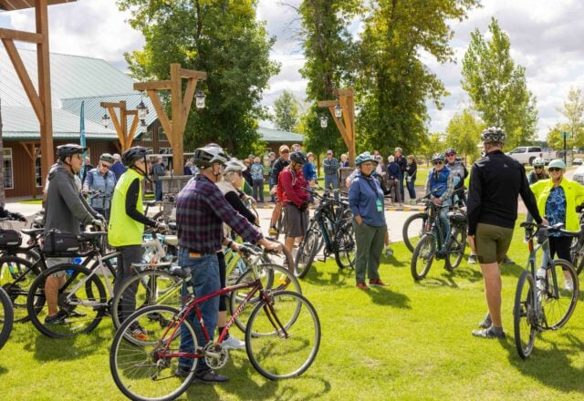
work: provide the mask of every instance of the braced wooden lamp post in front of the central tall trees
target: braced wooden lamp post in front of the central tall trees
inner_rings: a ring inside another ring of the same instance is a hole
[[[318,102],[319,108],[328,108],[332,119],[337,124],[340,131],[340,136],[345,141],[347,149],[349,149],[349,163],[355,166],[355,98],[352,88],[349,89],[335,89],[333,94],[339,97],[339,104],[343,110],[342,120],[335,117],[335,106],[337,100],[323,100]]]

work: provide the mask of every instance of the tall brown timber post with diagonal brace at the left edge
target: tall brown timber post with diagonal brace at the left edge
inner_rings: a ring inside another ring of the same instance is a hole
[[[0,10],[4,11],[35,8],[36,32],[0,28],[0,39],[5,46],[10,61],[16,69],[16,74],[22,86],[25,88],[26,96],[35,110],[36,118],[38,118],[40,125],[40,154],[42,155],[41,176],[43,180],[47,177],[55,154],[53,149],[53,118],[51,114],[51,82],[48,52],[48,5],[72,3],[74,1],[77,0],[0,0]],[[18,54],[15,42],[36,44],[38,90],[36,90],[30,75],[26,71],[25,64]],[[28,151],[27,153],[33,160],[34,165],[37,157],[36,152]]]

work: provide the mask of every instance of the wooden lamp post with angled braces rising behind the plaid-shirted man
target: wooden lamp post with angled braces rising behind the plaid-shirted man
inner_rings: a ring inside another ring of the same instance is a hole
[[[186,78],[186,90],[183,97],[183,78]],[[193,97],[199,80],[207,78],[207,73],[193,69],[182,68],[178,63],[171,64],[171,79],[163,81],[137,82],[134,90],[145,90],[151,98],[156,115],[161,122],[162,129],[172,146],[172,170],[175,175],[183,175],[184,144],[183,136],[186,120],[191,111]],[[172,119],[168,117],[161,98],[160,90],[171,91]]]

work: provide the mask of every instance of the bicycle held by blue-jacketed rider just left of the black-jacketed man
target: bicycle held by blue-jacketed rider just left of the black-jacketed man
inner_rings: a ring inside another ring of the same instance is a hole
[[[416,200],[418,201],[418,200]],[[426,232],[417,243],[412,254],[411,271],[414,280],[422,280],[430,271],[434,258],[444,260],[444,269],[454,272],[463,260],[464,248],[466,247],[467,221],[464,212],[458,209],[448,212],[450,221],[450,239],[445,241],[442,224],[439,223],[439,210],[449,208],[449,206],[437,206],[433,200],[424,197],[423,201],[428,209],[428,219],[426,221]],[[419,270],[419,265],[422,270]]]

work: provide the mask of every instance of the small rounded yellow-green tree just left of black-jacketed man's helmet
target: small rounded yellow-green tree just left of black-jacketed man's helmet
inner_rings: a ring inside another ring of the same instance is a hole
[[[456,149],[458,154],[464,154],[473,162],[478,159],[480,149],[476,146],[481,139],[485,124],[474,117],[471,110],[465,108],[461,114],[455,114],[446,128],[446,145]]]

